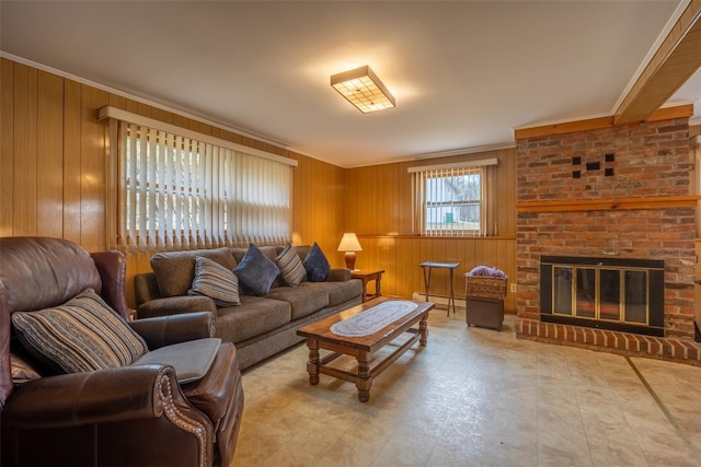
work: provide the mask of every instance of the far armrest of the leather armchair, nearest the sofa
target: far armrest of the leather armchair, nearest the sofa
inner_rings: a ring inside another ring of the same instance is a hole
[[[198,312],[142,318],[128,324],[153,350],[171,343],[214,337],[216,317],[209,312]]]

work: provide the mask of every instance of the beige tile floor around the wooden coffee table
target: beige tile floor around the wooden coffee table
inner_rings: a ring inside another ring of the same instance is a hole
[[[235,466],[701,466],[701,369],[519,340],[432,312],[361,404],[303,345],[244,372]],[[350,366],[350,361],[341,362]]]

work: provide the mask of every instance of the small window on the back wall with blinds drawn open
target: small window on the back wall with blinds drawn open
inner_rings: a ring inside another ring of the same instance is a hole
[[[486,234],[486,166],[497,160],[411,167],[414,230],[428,236]]]

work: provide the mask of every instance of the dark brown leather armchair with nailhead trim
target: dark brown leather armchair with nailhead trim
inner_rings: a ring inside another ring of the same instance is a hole
[[[216,348],[199,380],[171,365],[53,374],[23,351],[11,314],[57,306],[94,289],[123,318],[125,259],[45,237],[0,238],[0,465],[229,466],[243,389],[237,350]],[[214,336],[210,313],[129,325],[149,351]]]

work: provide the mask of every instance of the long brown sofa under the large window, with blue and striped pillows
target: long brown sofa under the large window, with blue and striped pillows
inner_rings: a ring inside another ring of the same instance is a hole
[[[295,249],[303,261],[309,245]],[[281,246],[261,246],[272,261]],[[172,315],[183,311],[209,311],[217,315],[215,336],[233,342],[240,355],[241,370],[261,362],[303,339],[297,336],[301,326],[363,303],[363,284],[350,279],[348,269],[331,268],[322,282],[302,281],[286,285],[277,278],[264,296],[240,294],[241,304],[217,306],[208,296],[187,295],[195,277],[195,258],[207,257],[233,269],[248,248],[212,248],[189,252],[160,253],[151,257],[152,272],[135,278],[137,315]]]

